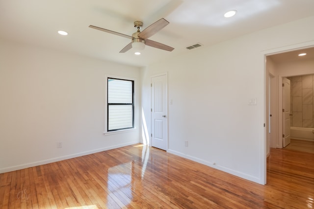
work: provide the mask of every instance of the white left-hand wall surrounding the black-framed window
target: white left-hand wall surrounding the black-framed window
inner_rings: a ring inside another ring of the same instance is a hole
[[[106,74],[139,98],[138,68],[0,40],[0,173],[138,143],[140,99],[136,130],[103,135]]]

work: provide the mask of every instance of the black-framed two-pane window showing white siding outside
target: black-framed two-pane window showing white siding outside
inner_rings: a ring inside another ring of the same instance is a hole
[[[134,128],[134,81],[107,79],[107,131]]]

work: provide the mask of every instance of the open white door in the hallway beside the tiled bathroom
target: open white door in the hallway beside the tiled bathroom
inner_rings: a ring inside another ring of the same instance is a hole
[[[290,80],[283,78],[283,147],[290,143]]]

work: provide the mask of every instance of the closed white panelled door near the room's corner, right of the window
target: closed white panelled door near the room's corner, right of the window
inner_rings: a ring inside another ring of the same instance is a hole
[[[152,146],[167,150],[167,77],[152,77]]]

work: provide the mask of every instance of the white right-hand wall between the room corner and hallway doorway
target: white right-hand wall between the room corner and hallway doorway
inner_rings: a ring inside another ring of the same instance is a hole
[[[265,183],[265,64],[269,50],[314,41],[314,17],[268,28],[144,69],[143,114],[150,130],[150,79],[168,72],[169,152]],[[257,105],[248,105],[257,98]],[[188,140],[188,147],[184,141]]]

